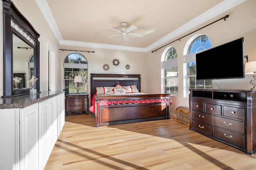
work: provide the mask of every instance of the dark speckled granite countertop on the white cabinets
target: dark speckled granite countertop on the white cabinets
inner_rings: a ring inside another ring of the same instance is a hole
[[[24,108],[62,93],[64,93],[64,91],[45,91],[37,94],[0,98],[0,109]]]

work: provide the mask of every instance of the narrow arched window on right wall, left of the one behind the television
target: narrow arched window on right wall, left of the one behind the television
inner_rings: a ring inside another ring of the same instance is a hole
[[[162,53],[164,70],[164,93],[178,96],[178,54],[174,47],[167,47]]]

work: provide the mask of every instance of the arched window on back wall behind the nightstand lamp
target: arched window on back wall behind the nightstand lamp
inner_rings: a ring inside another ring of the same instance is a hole
[[[79,53],[72,53],[64,60],[64,81],[65,81],[65,94],[76,94],[76,83],[74,82],[75,76],[82,76],[82,82],[79,83],[80,93],[87,94],[87,69],[88,63],[86,58]]]

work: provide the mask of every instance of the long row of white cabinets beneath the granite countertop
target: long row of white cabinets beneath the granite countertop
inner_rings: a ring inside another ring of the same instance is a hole
[[[0,170],[43,170],[65,123],[64,93],[0,109]]]

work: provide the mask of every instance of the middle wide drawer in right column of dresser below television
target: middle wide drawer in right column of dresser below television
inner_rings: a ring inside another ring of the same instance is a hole
[[[213,123],[214,126],[224,127],[226,129],[230,129],[232,131],[237,131],[239,133],[245,134],[244,122],[242,121],[214,116]]]

